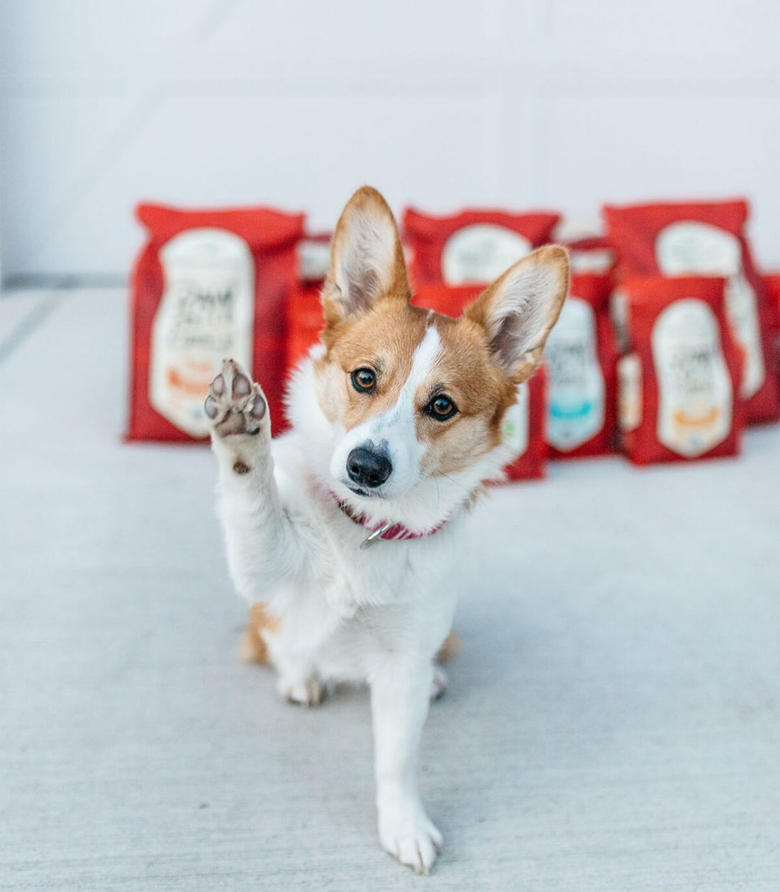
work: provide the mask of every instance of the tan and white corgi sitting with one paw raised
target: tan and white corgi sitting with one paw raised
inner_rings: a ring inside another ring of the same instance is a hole
[[[321,343],[271,440],[260,384],[226,359],[205,402],[218,512],[250,641],[277,688],[314,706],[371,690],[379,838],[427,873],[442,837],[417,785],[436,656],[451,629],[464,520],[514,458],[502,419],[538,368],[569,287],[558,245],[506,270],[460,318],[410,305],[398,227],[375,189],[349,200],[322,292]]]

